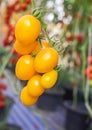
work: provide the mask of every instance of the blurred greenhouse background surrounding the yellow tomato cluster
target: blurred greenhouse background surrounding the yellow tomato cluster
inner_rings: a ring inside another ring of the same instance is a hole
[[[92,0],[36,0],[49,38],[60,41],[62,69],[54,87],[26,107],[13,43],[16,22],[31,5],[0,0],[0,130],[92,130]]]

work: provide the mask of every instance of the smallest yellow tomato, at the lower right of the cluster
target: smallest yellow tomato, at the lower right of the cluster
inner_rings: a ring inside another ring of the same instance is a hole
[[[58,72],[56,70],[52,70],[42,75],[41,77],[41,85],[44,89],[52,88],[58,78]]]

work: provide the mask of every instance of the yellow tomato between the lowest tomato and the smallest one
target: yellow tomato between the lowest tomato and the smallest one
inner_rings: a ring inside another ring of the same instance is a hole
[[[41,76],[34,75],[27,83],[28,92],[31,96],[37,97],[43,94],[44,88],[42,87],[41,83]]]

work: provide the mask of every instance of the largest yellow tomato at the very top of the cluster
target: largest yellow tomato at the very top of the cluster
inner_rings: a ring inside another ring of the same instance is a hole
[[[15,37],[21,44],[33,43],[41,31],[40,21],[32,15],[22,16],[15,26]]]

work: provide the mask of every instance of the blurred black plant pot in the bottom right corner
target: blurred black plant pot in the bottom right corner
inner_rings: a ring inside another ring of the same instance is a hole
[[[64,107],[66,108],[65,127],[67,130],[88,130],[91,119],[83,103],[73,108],[72,102],[67,101]]]

